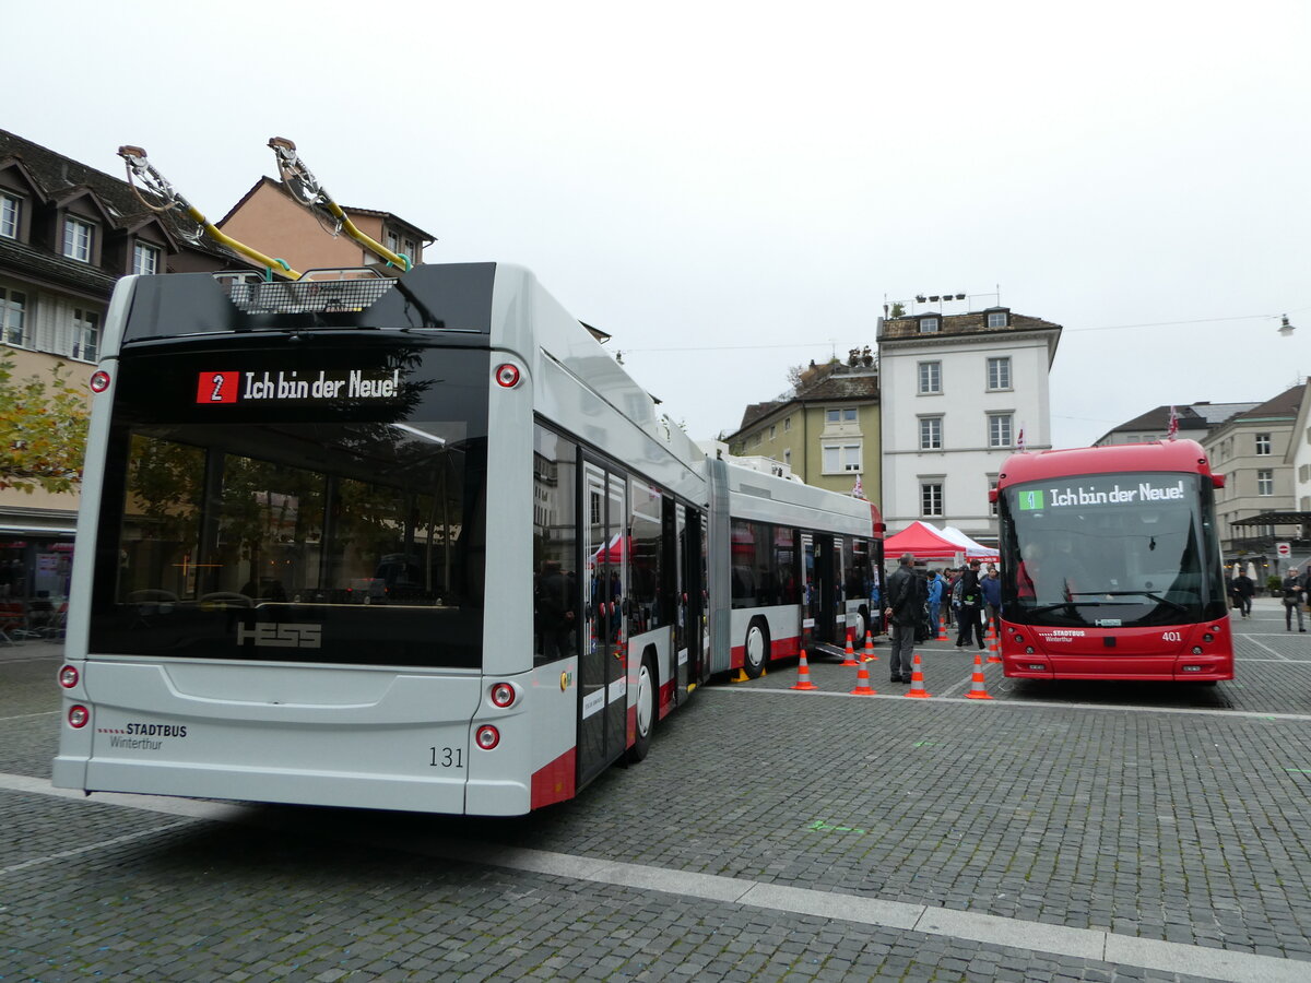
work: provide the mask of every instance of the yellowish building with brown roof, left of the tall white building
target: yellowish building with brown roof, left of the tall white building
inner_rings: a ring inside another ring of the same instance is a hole
[[[859,481],[877,503],[880,433],[878,367],[867,350],[812,363],[791,396],[747,406],[725,439],[734,456],[772,459],[815,488],[851,494]]]

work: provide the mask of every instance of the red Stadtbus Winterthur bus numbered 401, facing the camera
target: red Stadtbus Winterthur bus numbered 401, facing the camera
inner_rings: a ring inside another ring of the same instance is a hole
[[[1223,485],[1193,440],[1007,459],[995,493],[1006,675],[1232,679]]]

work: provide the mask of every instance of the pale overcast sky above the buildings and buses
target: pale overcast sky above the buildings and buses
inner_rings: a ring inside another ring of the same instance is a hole
[[[0,127],[144,147],[214,220],[290,138],[426,262],[532,269],[695,439],[920,294],[1065,328],[1057,447],[1311,366],[1304,0],[51,9],[5,12]]]

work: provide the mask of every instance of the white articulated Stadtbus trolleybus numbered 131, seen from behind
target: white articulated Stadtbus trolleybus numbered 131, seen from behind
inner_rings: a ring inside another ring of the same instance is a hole
[[[60,788],[527,813],[881,574],[868,502],[708,460],[517,266],[125,278],[92,388]],[[734,598],[743,531],[813,596]]]

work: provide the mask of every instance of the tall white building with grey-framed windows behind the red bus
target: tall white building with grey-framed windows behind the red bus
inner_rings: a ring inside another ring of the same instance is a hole
[[[1006,457],[1051,446],[1047,375],[1061,325],[995,307],[878,322],[882,511],[889,532],[915,519],[996,543]]]

